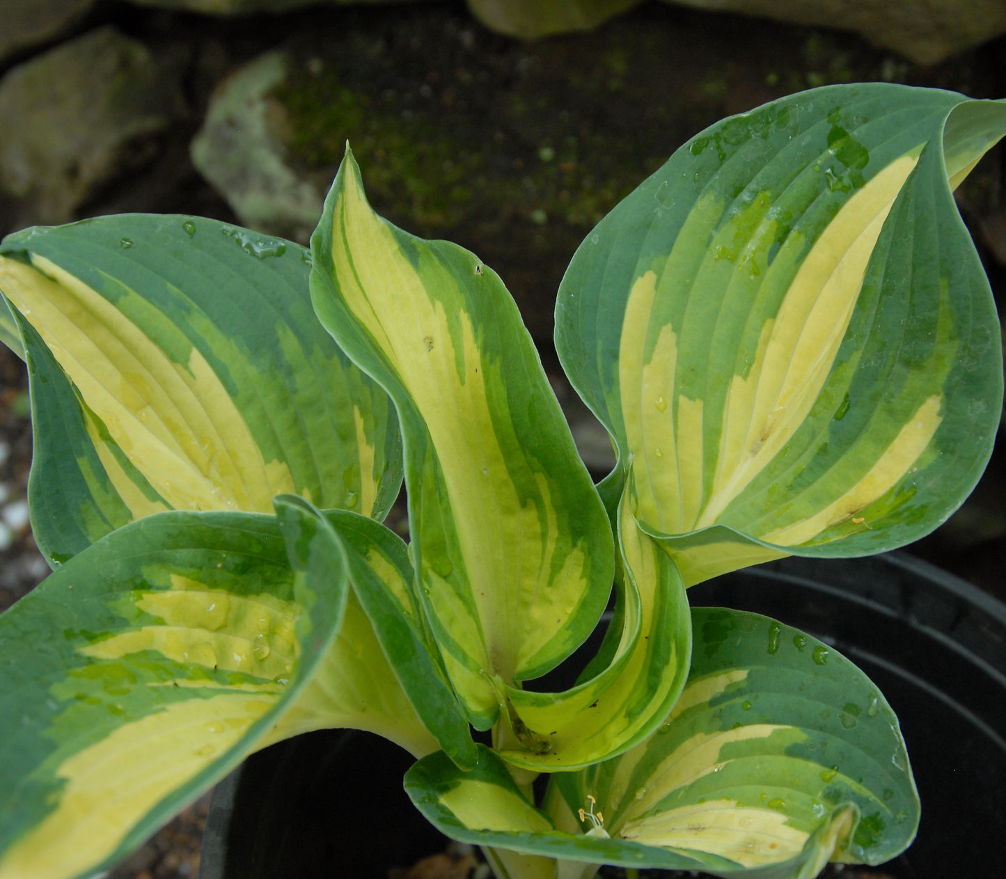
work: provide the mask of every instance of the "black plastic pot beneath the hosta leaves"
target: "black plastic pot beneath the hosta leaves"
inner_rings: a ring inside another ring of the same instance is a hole
[[[1006,605],[909,556],[789,558],[689,591],[833,645],[897,712],[923,801],[896,879],[1006,876]],[[200,879],[385,879],[445,838],[401,789],[409,758],[326,732],[250,757],[216,789]]]

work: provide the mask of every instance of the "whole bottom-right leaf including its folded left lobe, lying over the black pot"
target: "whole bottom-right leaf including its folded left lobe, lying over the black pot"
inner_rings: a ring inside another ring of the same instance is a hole
[[[553,774],[542,811],[488,751],[468,773],[425,757],[409,796],[455,839],[578,862],[583,875],[605,863],[795,879],[829,859],[901,852],[918,800],[897,720],[866,676],[765,617],[692,614],[688,684],[664,726],[620,757]]]

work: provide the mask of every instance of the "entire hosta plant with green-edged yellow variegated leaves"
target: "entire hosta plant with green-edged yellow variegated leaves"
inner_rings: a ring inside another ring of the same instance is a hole
[[[108,869],[321,727],[411,752],[412,801],[501,879],[903,850],[877,688],[686,589],[901,546],[972,489],[1002,359],[952,190],[1004,132],[1003,103],[843,85],[679,149],[559,290],[597,486],[503,283],[377,216],[348,152],[310,250],[182,216],[6,238],[53,572],[0,618],[0,877]],[[529,685],[610,600],[575,685]]]

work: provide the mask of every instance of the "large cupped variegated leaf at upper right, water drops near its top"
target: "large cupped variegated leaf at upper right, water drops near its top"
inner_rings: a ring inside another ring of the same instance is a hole
[[[971,491],[1002,368],[951,187],[1004,132],[1006,104],[947,92],[791,96],[693,138],[581,244],[556,346],[686,583],[900,546]]]

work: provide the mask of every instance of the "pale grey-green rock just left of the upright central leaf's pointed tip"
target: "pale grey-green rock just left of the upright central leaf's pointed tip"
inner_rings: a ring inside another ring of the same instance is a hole
[[[287,76],[281,52],[245,64],[217,87],[192,141],[192,163],[243,225],[306,242],[323,195],[286,164],[285,113],[270,93]]]

